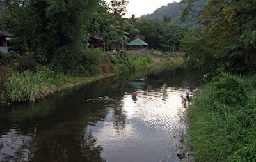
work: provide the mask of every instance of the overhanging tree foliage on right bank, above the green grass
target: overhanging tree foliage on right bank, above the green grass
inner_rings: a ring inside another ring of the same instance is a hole
[[[193,11],[188,3],[184,17]],[[204,73],[216,68],[246,73],[255,70],[255,1],[212,1],[200,13],[202,30],[195,27],[185,36],[181,48],[187,63]],[[195,30],[196,29],[196,30]],[[251,31],[251,32],[248,32]],[[210,68],[208,68],[210,66]]]

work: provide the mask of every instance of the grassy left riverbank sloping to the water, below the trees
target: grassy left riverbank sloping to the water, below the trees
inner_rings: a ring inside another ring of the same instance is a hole
[[[10,104],[20,101],[44,99],[53,92],[61,91],[81,84],[86,84],[115,73],[138,70],[150,66],[181,66],[182,54],[148,51],[112,52],[102,56],[99,73],[75,75],[56,72],[47,66],[40,66],[29,56],[11,55],[8,60],[1,60],[0,103]],[[25,66],[27,65],[27,66]]]

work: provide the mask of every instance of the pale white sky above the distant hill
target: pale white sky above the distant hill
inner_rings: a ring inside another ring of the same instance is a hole
[[[109,3],[111,0],[106,1]],[[168,3],[172,3],[173,1],[175,0],[129,0],[125,17],[130,18],[132,14],[135,14],[136,17],[147,15],[148,13],[153,13],[157,8],[166,6]],[[180,0],[176,0],[176,2],[179,1]]]

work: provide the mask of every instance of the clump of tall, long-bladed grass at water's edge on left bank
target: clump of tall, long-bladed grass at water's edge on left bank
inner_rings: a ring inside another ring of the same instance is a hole
[[[52,83],[52,78],[42,73],[33,73],[29,70],[17,73],[8,78],[5,84],[8,91],[7,97],[13,102],[43,99],[52,92]]]

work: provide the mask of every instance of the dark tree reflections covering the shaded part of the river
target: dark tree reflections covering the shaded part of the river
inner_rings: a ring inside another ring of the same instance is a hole
[[[168,87],[182,87],[184,80],[189,85],[198,85],[193,72],[180,68],[159,68],[153,73],[150,70],[130,71],[62,91],[33,105],[13,105],[14,108],[0,112],[0,136],[18,125],[15,128],[17,134],[28,136],[31,140],[20,140],[22,147],[13,148],[16,153],[10,159],[20,161],[22,151],[29,150],[29,161],[104,161],[100,158],[102,147],[97,146],[97,140],[90,133],[84,133],[84,129],[88,125],[96,126],[98,121],[106,117],[106,107],[111,107],[113,128],[116,131],[124,130],[127,116],[120,101],[125,92],[134,90],[127,82],[145,75],[149,79],[145,81],[143,89],[159,92],[163,98],[168,96]],[[96,100],[99,96],[108,96],[113,100]],[[88,99],[92,100],[84,102]],[[182,103],[186,107],[188,101]],[[3,147],[0,138],[0,149]]]

